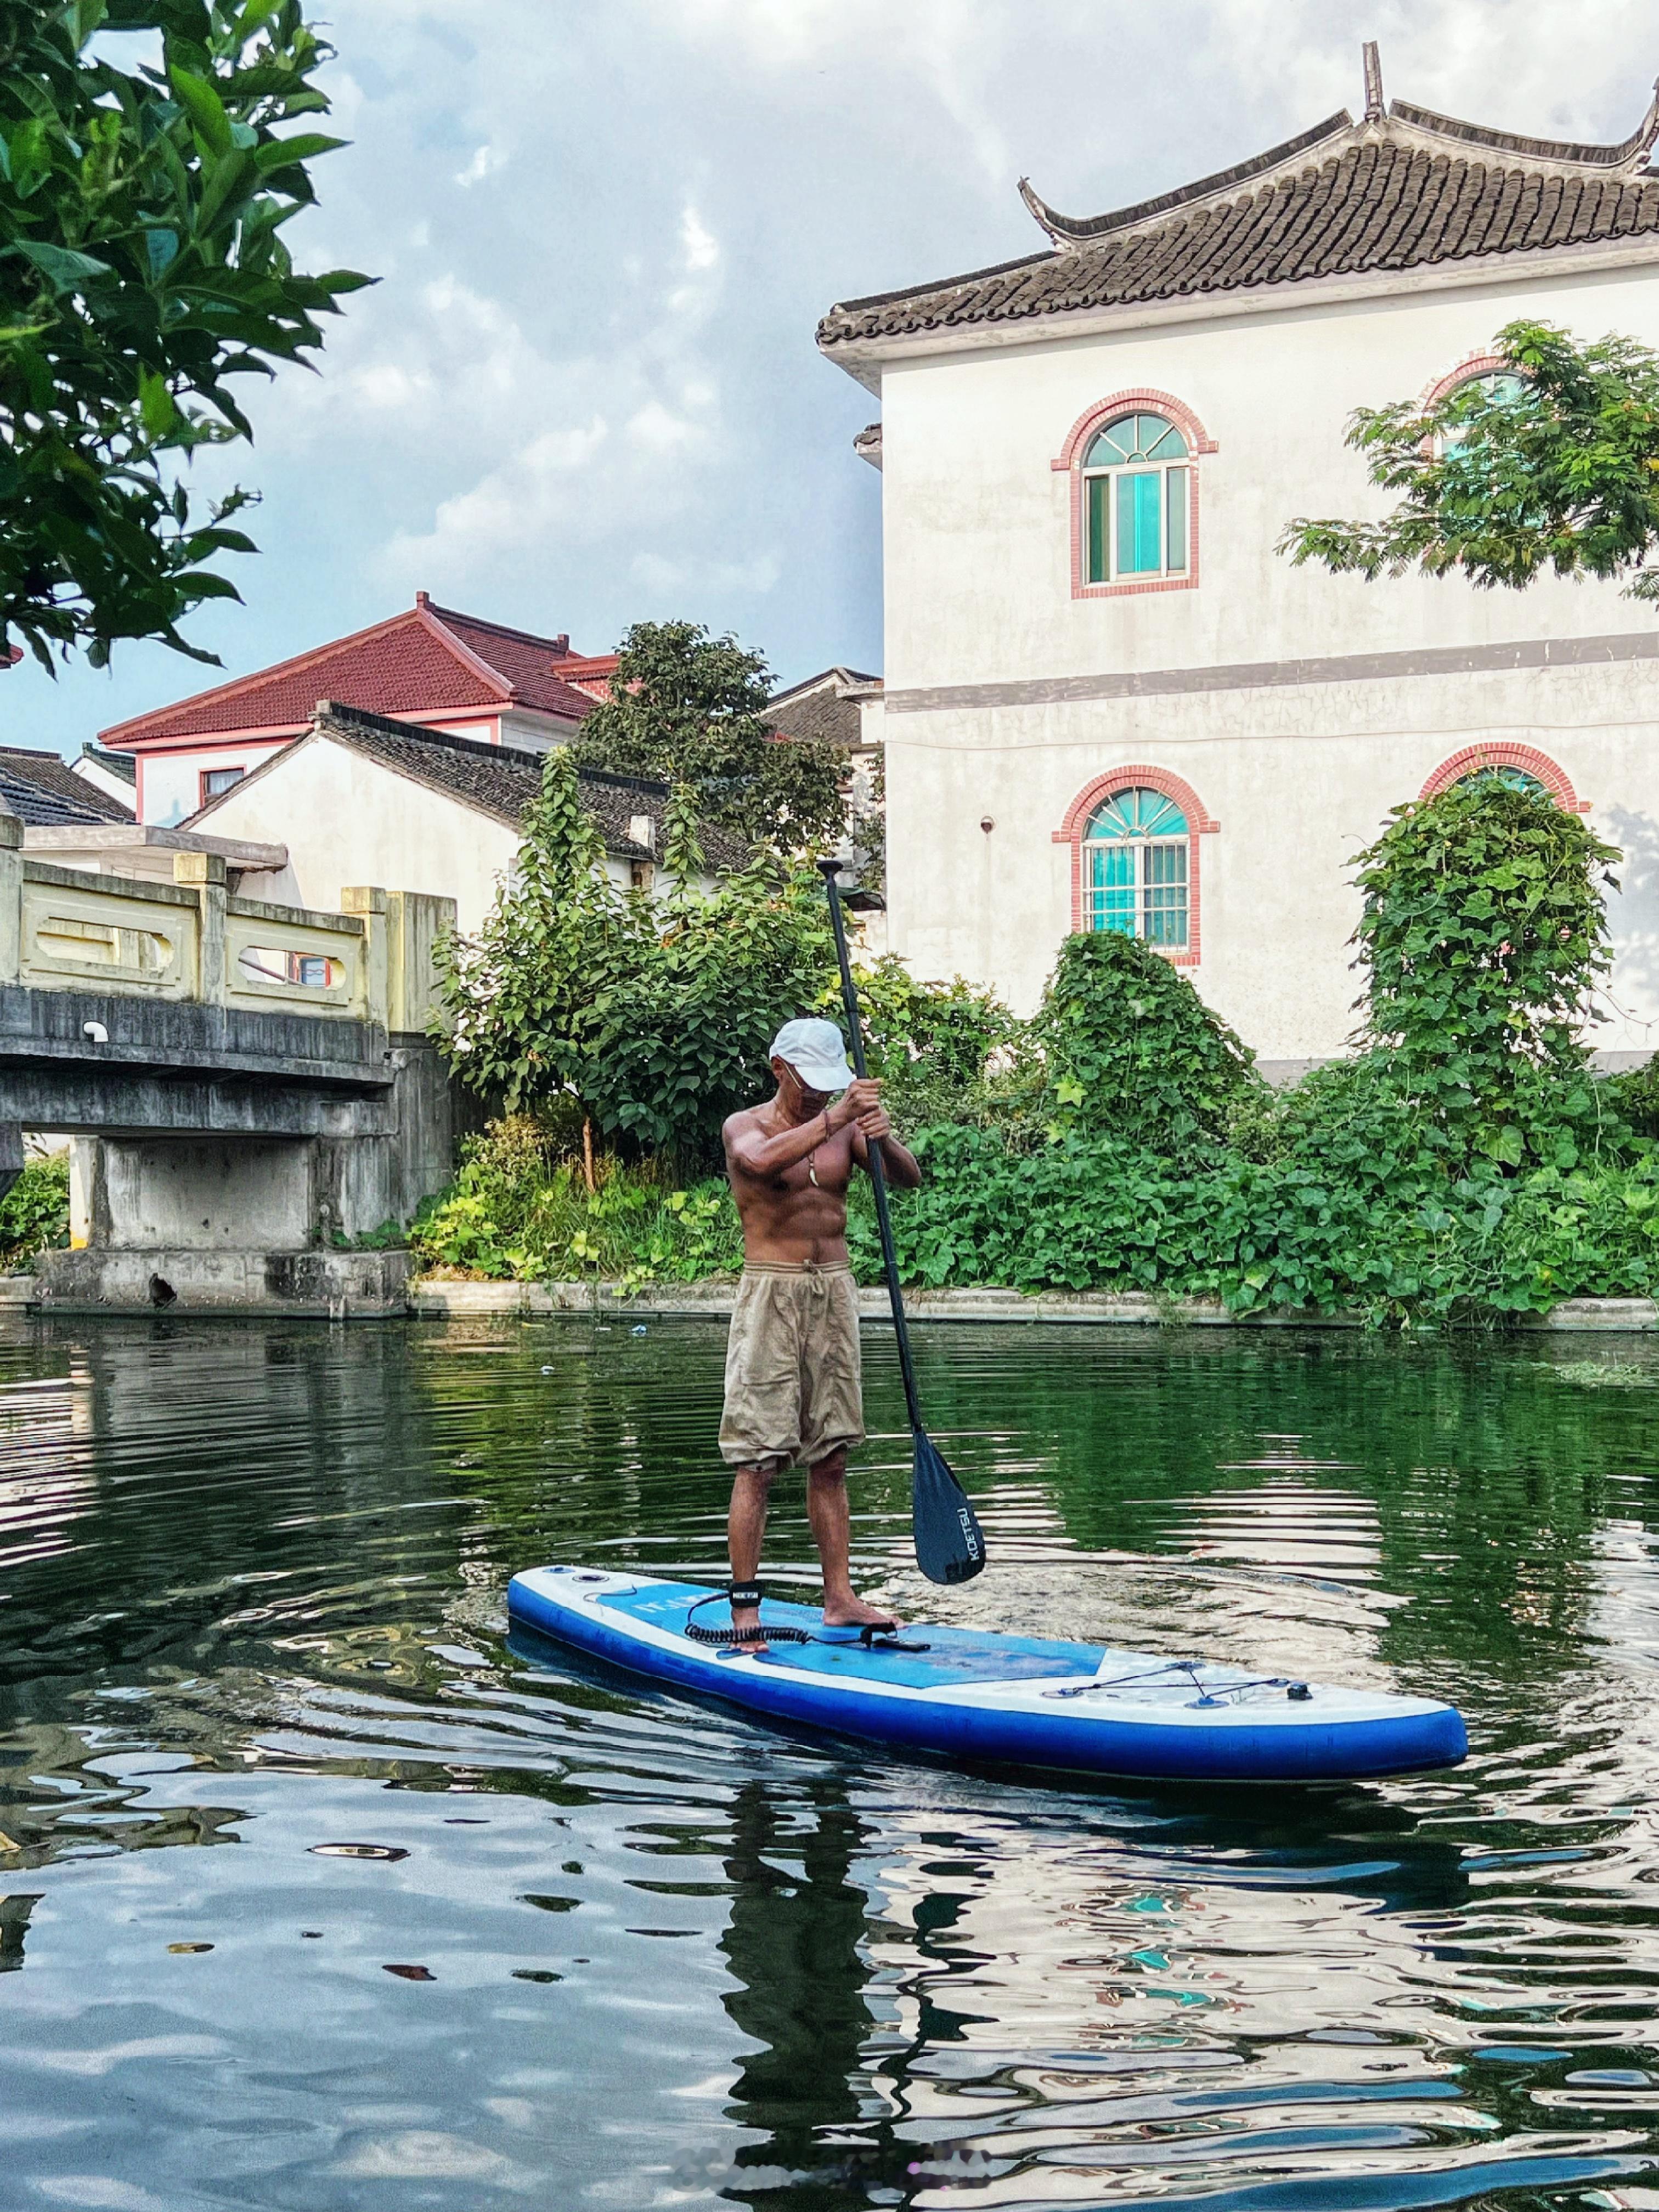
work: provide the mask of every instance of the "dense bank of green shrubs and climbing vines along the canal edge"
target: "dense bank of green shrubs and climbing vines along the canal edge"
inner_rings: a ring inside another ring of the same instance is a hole
[[[765,1095],[785,1011],[838,1011],[823,894],[757,874],[653,918],[595,891],[577,927],[573,799],[555,770],[546,790],[564,830],[540,860],[526,845],[522,878],[542,880],[535,911],[549,938],[568,931],[564,949],[538,967],[526,907],[491,940],[500,991],[456,998],[473,1024],[511,1015],[489,1051],[535,1117],[476,1139],[411,1241],[427,1265],[498,1276],[734,1270],[723,1179],[668,1161],[710,1161],[717,1115]],[[1071,938],[1031,1022],[962,980],[872,962],[869,1064],[925,1168],[918,1192],[894,1194],[900,1274],[1378,1323],[1659,1294],[1659,1075],[1597,1079],[1584,1044],[1615,860],[1579,816],[1495,776],[1396,810],[1358,860],[1363,1048],[1285,1095],[1130,938]],[[617,914],[617,942],[584,936]],[[602,1161],[588,1194],[573,1161],[584,1106],[668,1150]],[[847,1241],[876,1281],[863,1177]]]

